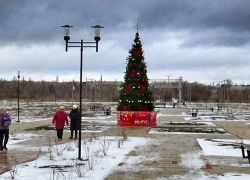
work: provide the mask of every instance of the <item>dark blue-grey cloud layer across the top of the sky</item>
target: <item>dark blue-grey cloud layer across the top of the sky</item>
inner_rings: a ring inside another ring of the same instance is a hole
[[[105,25],[109,32],[129,21],[141,19],[145,29],[170,30],[225,28],[235,33],[249,32],[250,2],[205,0],[114,1],[51,0],[1,1],[0,36],[8,43],[54,41],[61,36],[59,26],[72,24],[77,30],[93,23]]]

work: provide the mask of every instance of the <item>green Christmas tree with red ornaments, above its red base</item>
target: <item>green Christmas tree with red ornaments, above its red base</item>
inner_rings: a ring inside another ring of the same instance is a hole
[[[121,85],[118,111],[154,111],[154,99],[144,62],[144,51],[137,31],[129,50],[124,83]]]

